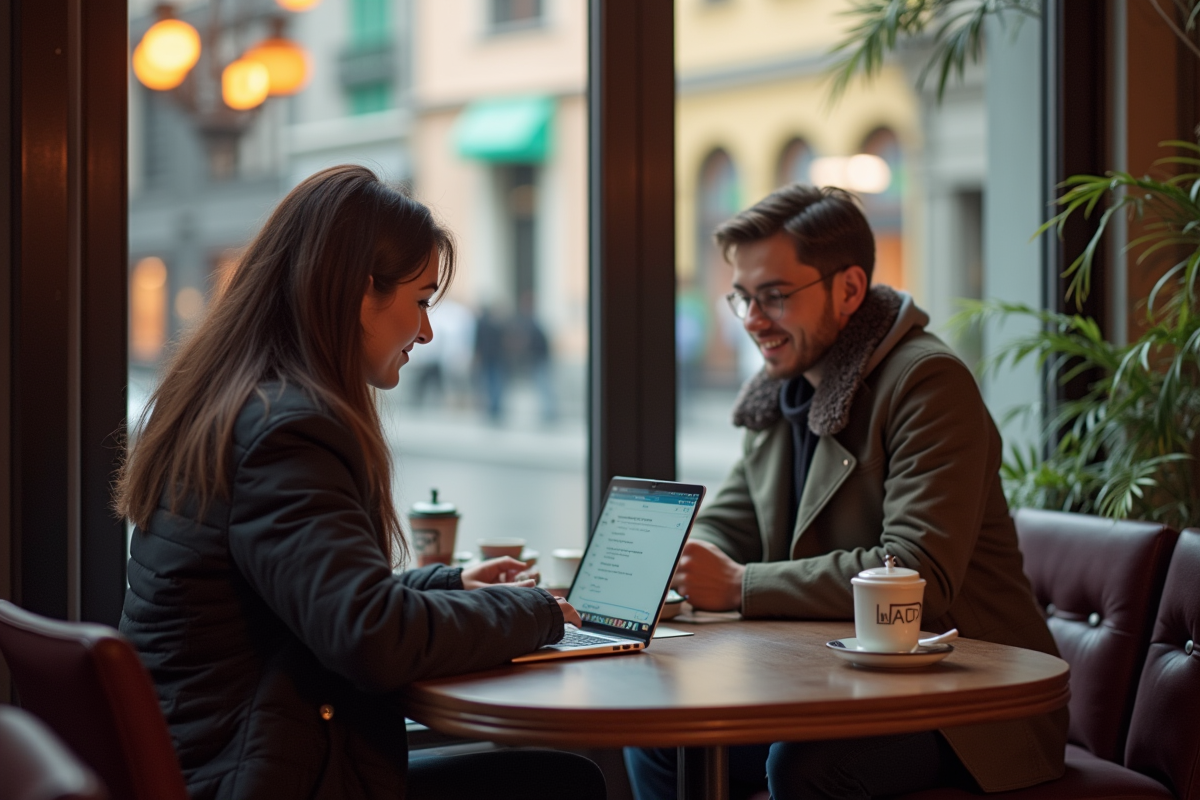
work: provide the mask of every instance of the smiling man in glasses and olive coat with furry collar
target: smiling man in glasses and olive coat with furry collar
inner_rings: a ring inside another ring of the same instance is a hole
[[[1057,655],[1021,570],[1001,438],[970,369],[912,297],[871,287],[854,198],[784,187],[715,231],[733,313],[766,366],[738,397],[742,458],[706,504],[674,585],[746,618],[853,619],[851,578],[884,554],[925,579],[922,630]],[[1063,774],[1066,709],[940,732],[731,747],[774,800],[985,792]],[[674,751],[628,750],[638,800],[674,796]]]

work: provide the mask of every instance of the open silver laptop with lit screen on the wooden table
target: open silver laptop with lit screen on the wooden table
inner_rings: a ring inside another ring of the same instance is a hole
[[[566,594],[583,627],[512,661],[644,650],[671,588],[704,487],[614,477]]]

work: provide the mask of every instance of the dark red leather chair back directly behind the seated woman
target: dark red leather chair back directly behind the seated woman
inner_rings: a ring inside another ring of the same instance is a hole
[[[154,685],[120,633],[0,600],[0,654],[22,705],[101,776],[114,800],[187,800]]]

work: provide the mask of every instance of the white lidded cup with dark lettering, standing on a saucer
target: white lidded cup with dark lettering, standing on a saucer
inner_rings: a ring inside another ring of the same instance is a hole
[[[864,650],[911,652],[920,634],[925,579],[916,570],[896,566],[894,555],[884,566],[863,570],[850,579],[854,587],[854,637]]]

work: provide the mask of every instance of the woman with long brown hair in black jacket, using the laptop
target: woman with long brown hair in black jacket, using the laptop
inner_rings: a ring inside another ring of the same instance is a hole
[[[275,209],[167,365],[116,487],[136,529],[121,631],[193,799],[604,796],[565,753],[408,770],[395,690],[562,638],[575,609],[511,559],[396,573],[406,543],[372,390],[390,389],[454,242],[420,203],[334,167]],[[473,591],[462,591],[473,589]]]

